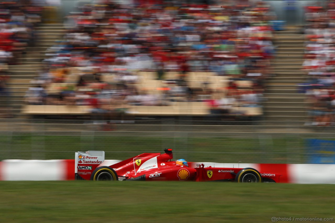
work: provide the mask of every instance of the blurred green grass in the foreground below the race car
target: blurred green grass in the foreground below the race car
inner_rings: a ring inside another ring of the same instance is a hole
[[[334,218],[323,184],[3,181],[0,222],[271,222]]]

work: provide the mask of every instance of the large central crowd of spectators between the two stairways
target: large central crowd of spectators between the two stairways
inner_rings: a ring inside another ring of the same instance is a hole
[[[71,13],[72,25],[48,50],[27,102],[91,105],[92,112],[169,101],[206,100],[224,110],[232,104],[260,106],[274,53],[274,17],[264,1],[133,4],[95,1]],[[141,87],[139,73],[145,72],[166,85],[158,91]],[[177,78],[165,78],[171,72]],[[225,76],[228,84],[213,89],[203,79],[195,89],[188,82],[192,72]],[[240,80],[251,84],[241,87]]]

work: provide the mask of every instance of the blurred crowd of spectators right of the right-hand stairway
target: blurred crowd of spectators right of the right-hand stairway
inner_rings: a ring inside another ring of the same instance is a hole
[[[310,122],[306,125],[329,126],[335,124],[335,7],[307,8],[307,38],[304,70],[308,82],[302,85],[307,94]]]

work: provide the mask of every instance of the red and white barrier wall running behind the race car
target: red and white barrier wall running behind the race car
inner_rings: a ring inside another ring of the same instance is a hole
[[[119,160],[105,160],[109,166]],[[189,162],[190,167],[200,163]],[[280,182],[335,184],[335,164],[204,163],[205,167],[246,168],[281,174]],[[3,160],[0,180],[74,180],[74,160]]]

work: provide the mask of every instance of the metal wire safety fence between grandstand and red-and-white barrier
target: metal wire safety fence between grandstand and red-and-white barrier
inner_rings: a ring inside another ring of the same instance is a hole
[[[180,120],[159,123],[104,123],[68,120],[6,120],[0,124],[0,160],[73,159],[74,152],[103,150],[106,159],[127,159],[144,152],[172,148],[174,157],[194,162],[311,163],[324,155],[332,162],[333,145],[313,151],[308,140],[331,141],[329,129],[276,130],[264,126],[186,125]]]

